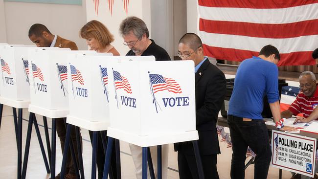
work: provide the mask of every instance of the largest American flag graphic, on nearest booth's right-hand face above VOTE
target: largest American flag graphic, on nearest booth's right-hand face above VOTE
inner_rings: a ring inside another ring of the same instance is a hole
[[[159,74],[150,74],[150,80],[154,93],[163,90],[182,93],[180,85],[173,78],[166,78]]]

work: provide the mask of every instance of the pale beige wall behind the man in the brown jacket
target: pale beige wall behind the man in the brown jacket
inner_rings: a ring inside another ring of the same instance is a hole
[[[3,0],[0,5],[1,2]],[[0,6],[0,24],[2,17]],[[79,38],[79,30],[86,23],[85,0],[82,6],[5,1],[4,18],[8,44],[31,45],[29,28],[34,23],[42,23],[52,34],[74,41],[79,49],[87,49],[85,40]]]

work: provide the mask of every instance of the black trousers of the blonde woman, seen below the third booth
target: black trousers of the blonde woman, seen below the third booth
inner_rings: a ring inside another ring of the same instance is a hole
[[[93,141],[93,133],[89,131],[91,137],[91,143]],[[106,131],[107,134],[107,131]],[[108,141],[108,136],[106,136],[106,140]],[[115,151],[115,140],[113,140],[113,149],[112,149],[112,157],[111,157],[111,169],[113,172],[113,176],[109,172],[110,179],[117,179],[117,167],[116,167],[116,151]],[[106,151],[106,149],[105,149]],[[98,133],[98,142],[97,142],[97,170],[98,170],[98,179],[103,179],[104,173],[104,164],[105,164],[105,152],[102,142],[101,134]]]

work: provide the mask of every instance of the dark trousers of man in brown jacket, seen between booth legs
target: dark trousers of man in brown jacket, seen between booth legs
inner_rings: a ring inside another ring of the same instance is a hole
[[[66,138],[66,127],[65,127],[64,119],[65,118],[55,119],[56,120],[56,133],[57,133],[57,136],[60,138],[62,154],[64,152],[64,144],[65,144],[65,138]],[[81,140],[81,146],[83,146],[82,145],[82,136],[81,136],[81,134],[80,134],[80,140]],[[75,134],[75,128],[74,127],[72,128],[71,133],[70,133],[70,142],[73,143],[75,156],[76,156],[76,158],[78,160],[78,152],[77,152],[77,145],[76,145],[76,134]],[[71,159],[71,153],[70,153],[70,149],[69,148],[68,148],[68,157],[66,159],[66,165],[65,166],[66,166],[65,167],[66,174],[70,173],[72,175],[75,175],[74,164],[73,164],[73,161]]]

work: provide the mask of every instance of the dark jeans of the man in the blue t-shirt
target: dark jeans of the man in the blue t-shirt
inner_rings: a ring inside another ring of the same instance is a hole
[[[242,117],[227,115],[232,141],[231,179],[244,179],[248,146],[256,154],[254,179],[266,179],[272,151],[264,120],[243,121]]]

